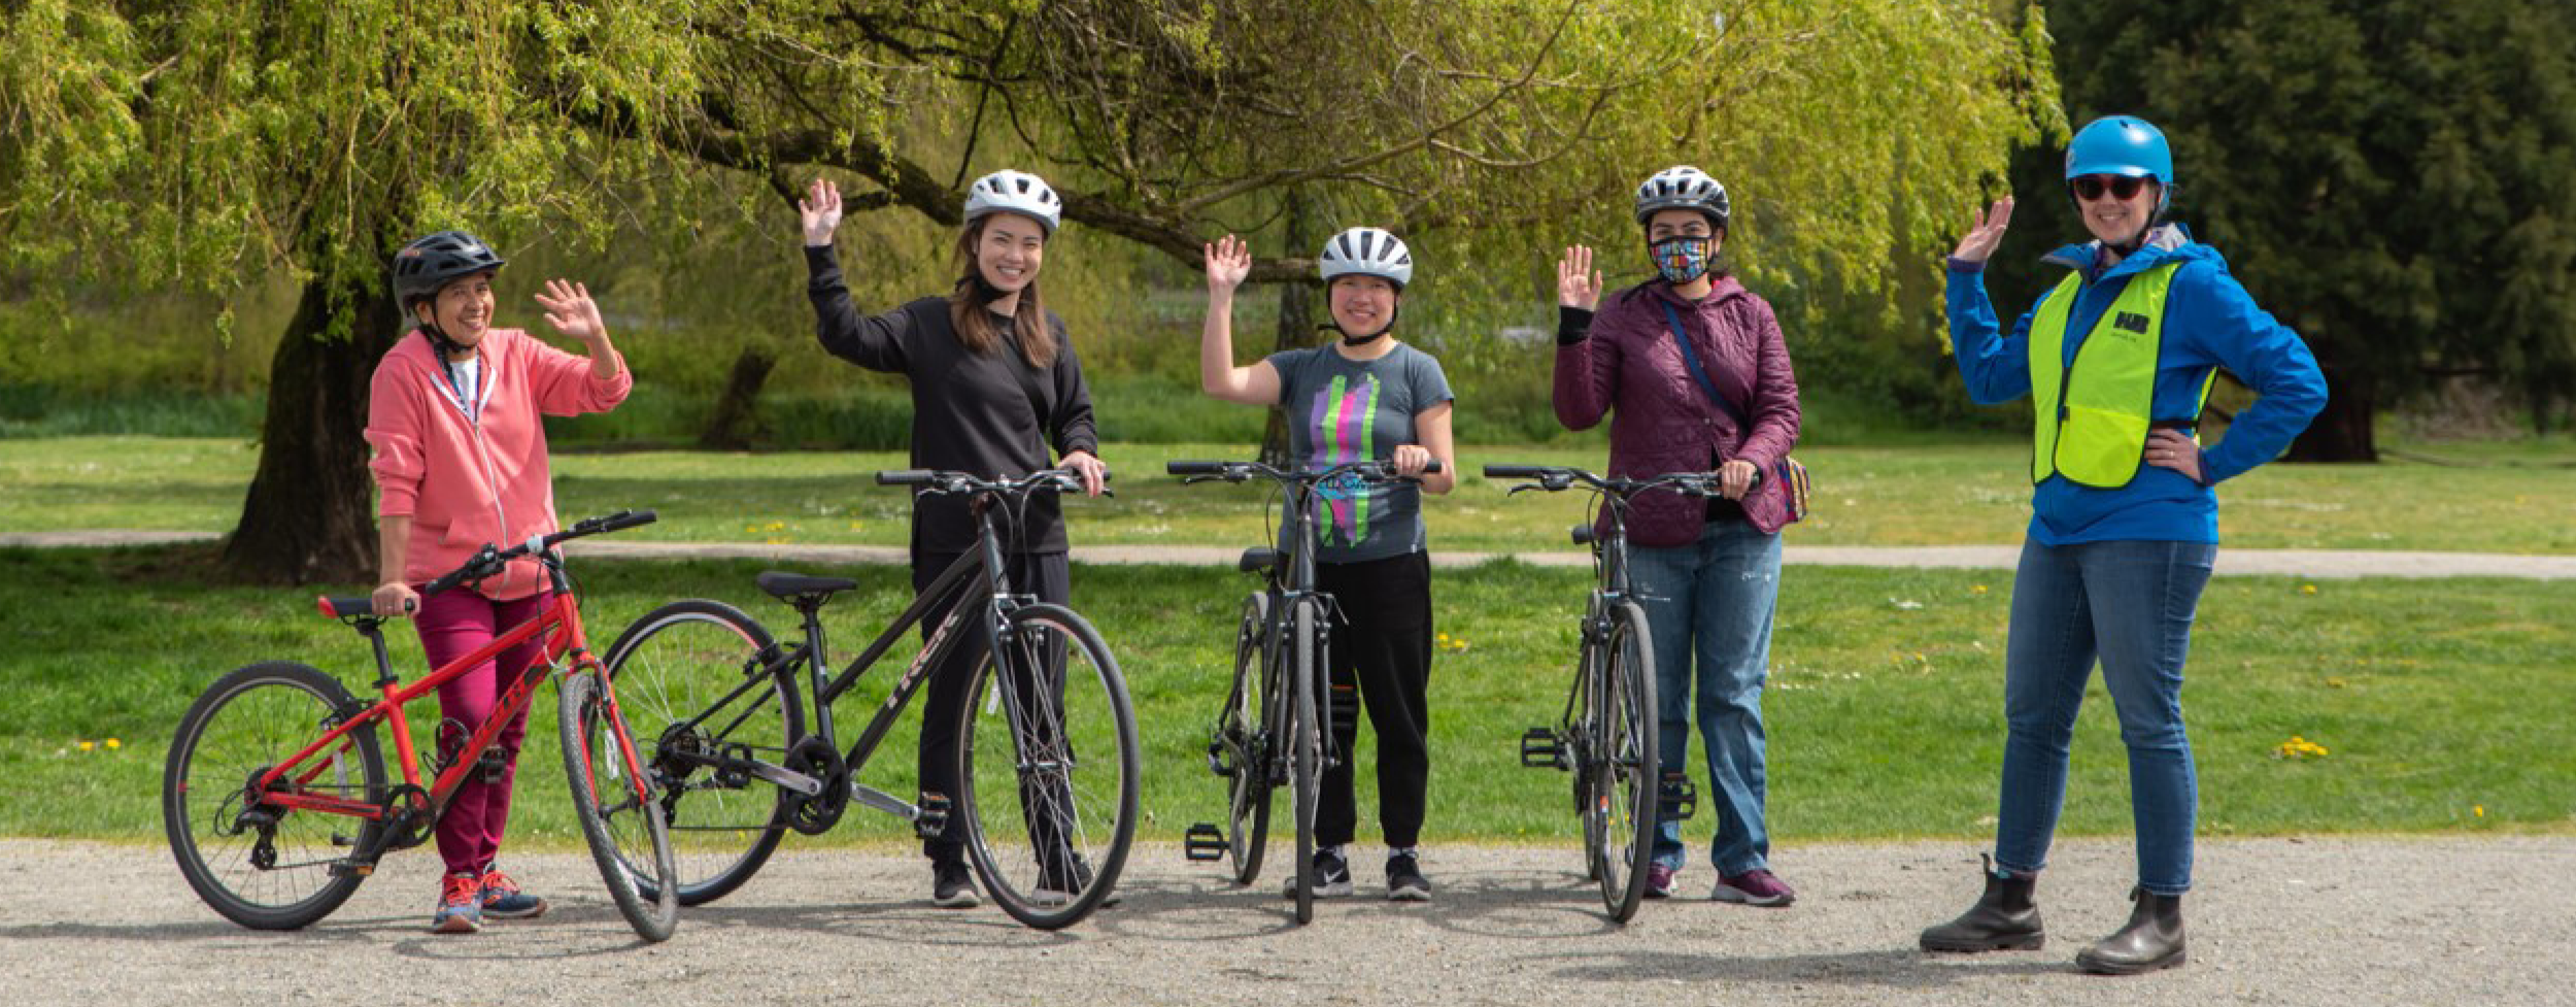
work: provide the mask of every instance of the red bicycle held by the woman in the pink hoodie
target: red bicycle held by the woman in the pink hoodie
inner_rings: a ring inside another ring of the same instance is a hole
[[[206,688],[180,719],[162,770],[162,824],[188,886],[214,912],[252,930],[296,930],[327,917],[384,852],[430,840],[466,773],[477,773],[502,726],[528,711],[536,685],[562,670],[556,724],[582,837],[636,935],[670,937],[680,901],[654,773],[636,755],[611,680],[585,644],[572,577],[554,551],[569,538],[652,520],[652,510],[616,513],[513,549],[484,546],[433,579],[422,595],[471,585],[533,556],[554,585],[554,603],[412,685],[394,675],[384,652],[389,616],[376,616],[371,598],[319,598],[322,616],[340,618],[376,649],[381,698],[361,703],[337,677],[299,662],[250,664]],[[474,724],[453,762],[422,786],[402,706],[549,631],[544,659],[507,682],[492,716]],[[379,729],[394,734],[402,783],[384,775]]]

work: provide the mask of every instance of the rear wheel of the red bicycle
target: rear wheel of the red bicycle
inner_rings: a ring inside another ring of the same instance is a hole
[[[289,811],[250,780],[296,755],[355,701],[307,664],[263,662],[219,677],[178,721],[162,765],[162,829],[178,871],[214,912],[252,930],[296,930],[340,909],[366,876],[332,873],[348,850],[374,847],[371,819]],[[361,729],[304,760],[268,793],[384,801],[384,755]]]

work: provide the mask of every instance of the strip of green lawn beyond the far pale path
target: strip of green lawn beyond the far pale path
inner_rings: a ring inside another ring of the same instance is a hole
[[[2455,451],[2455,448],[2439,448]],[[2463,448],[2465,451],[2465,448]],[[1170,458],[1242,458],[1247,446],[1108,446],[1118,500],[1066,507],[1077,543],[1252,543],[1257,487],[1182,487]],[[2576,554],[2576,464],[2465,451],[2473,466],[2264,466],[2221,489],[2221,536],[2244,549],[2439,549]],[[258,451],[240,440],[0,440],[0,531],[229,531]],[[1571,549],[1579,494],[1504,497],[1484,464],[1597,469],[1582,448],[1463,448],[1458,492],[1427,505],[1435,549]],[[2027,448],[1914,446],[1801,451],[1816,513],[1808,546],[2014,543],[2030,520]],[[564,518],[657,507],[639,541],[902,546],[909,497],[868,479],[899,453],[567,453],[554,458]]]

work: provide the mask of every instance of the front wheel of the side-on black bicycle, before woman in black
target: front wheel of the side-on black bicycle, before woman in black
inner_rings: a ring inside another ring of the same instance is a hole
[[[1141,762],[1100,631],[1064,605],[1010,613],[961,719],[958,811],[984,891],[1038,930],[1087,917],[1126,871]]]

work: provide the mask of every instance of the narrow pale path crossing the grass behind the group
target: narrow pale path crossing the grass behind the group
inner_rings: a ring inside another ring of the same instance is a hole
[[[39,531],[0,533],[0,546],[160,546],[214,541],[201,531]],[[577,541],[574,556],[603,559],[775,559],[786,564],[902,564],[902,546],[762,546],[762,543],[685,543],[685,541]],[[1077,564],[1234,564],[1231,546],[1074,546]],[[1538,567],[1589,567],[1582,551],[1432,551],[1440,567],[1476,567],[1512,556]],[[1922,569],[2012,569],[2022,546],[1783,546],[1780,561],[1798,567],[1922,567]],[[2576,556],[2527,554],[2445,554],[2445,551],[2362,551],[2362,549],[2218,549],[2218,577],[2519,577],[2576,579]]]

